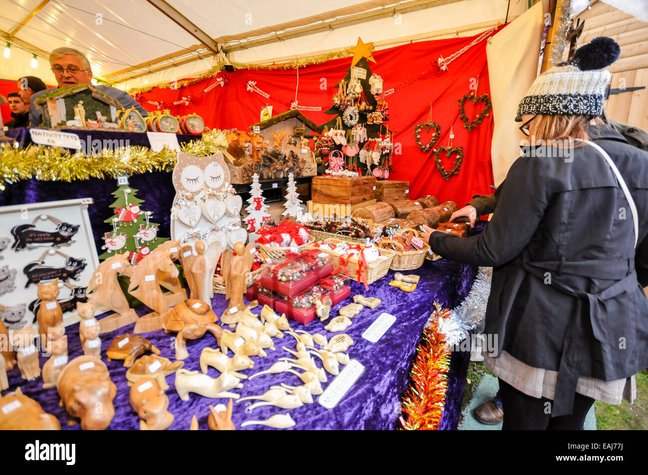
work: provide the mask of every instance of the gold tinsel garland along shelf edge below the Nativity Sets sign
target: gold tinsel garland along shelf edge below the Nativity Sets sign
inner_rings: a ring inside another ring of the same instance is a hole
[[[224,150],[227,140],[220,130],[211,130],[200,139],[180,144],[180,149],[194,157],[213,155]],[[89,178],[117,178],[153,171],[173,170],[177,152],[167,147],[154,152],[145,146],[70,152],[65,148],[30,145],[17,148],[10,143],[0,145],[0,191],[5,183],[36,178],[45,181],[88,180]]]

